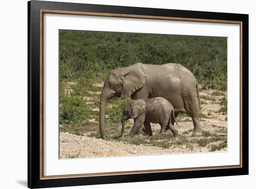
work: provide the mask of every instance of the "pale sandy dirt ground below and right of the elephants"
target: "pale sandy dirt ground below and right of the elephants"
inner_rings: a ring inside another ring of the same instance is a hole
[[[101,86],[102,84],[97,84],[97,87]],[[226,146],[213,150],[215,146],[223,142],[223,140],[218,140],[218,138],[227,137],[227,115],[219,112],[221,108],[220,99],[227,94],[213,95],[214,91],[212,89],[200,89],[202,102],[200,120],[202,130],[204,131],[200,137],[193,136],[193,122],[186,115],[178,116],[178,125],[175,126],[179,130],[179,135],[178,137],[170,138],[170,144],[173,145],[170,145],[168,148],[148,144],[133,145],[128,144],[126,141],[118,140],[102,140],[90,136],[91,133],[89,132],[83,135],[60,132],[60,158],[227,151]],[[85,97],[85,99],[90,100],[89,97]],[[99,109],[94,108],[93,111],[98,112]],[[89,121],[97,122],[95,119]],[[132,121],[130,120],[130,126],[133,124]],[[160,131],[160,125],[158,124],[151,124],[151,127],[153,135]],[[117,129],[121,131],[121,127]]]

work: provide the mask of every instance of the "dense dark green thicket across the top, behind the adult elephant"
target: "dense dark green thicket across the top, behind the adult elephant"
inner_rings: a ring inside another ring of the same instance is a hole
[[[203,88],[227,90],[227,38],[60,30],[60,77],[103,81],[112,69],[141,62],[180,63]]]

